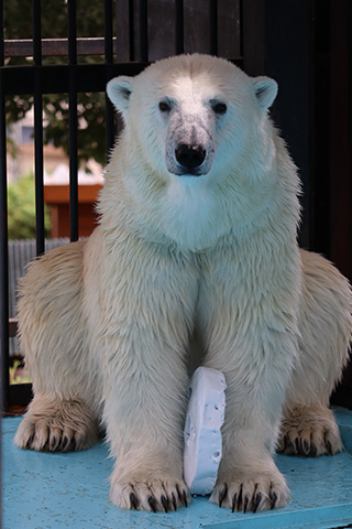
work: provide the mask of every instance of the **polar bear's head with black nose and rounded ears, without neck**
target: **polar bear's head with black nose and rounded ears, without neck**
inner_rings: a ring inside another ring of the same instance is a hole
[[[194,54],[160,61],[134,78],[117,77],[107,91],[122,112],[134,155],[142,152],[161,176],[195,180],[233,164],[248,137],[261,142],[261,121],[277,85]]]

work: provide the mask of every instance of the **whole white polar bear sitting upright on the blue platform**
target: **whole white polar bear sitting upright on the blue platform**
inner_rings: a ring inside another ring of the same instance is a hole
[[[202,364],[228,385],[210,500],[243,511],[284,506],[277,446],[342,447],[328,403],[348,358],[352,301],[332,264],[298,249],[299,180],[268,116],[277,85],[196,54],[107,90],[124,129],[100,225],[36,260],[22,281],[34,398],[14,442],[81,450],[102,424],[117,506],[187,506],[187,365]]]

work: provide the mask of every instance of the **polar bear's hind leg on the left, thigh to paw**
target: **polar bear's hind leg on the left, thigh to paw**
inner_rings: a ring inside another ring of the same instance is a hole
[[[85,245],[47,252],[21,281],[21,350],[34,392],[14,438],[22,449],[66,452],[98,440],[99,371],[81,307]]]

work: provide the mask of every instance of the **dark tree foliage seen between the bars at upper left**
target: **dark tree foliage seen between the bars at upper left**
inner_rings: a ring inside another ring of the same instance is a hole
[[[4,37],[31,39],[32,0],[4,2]],[[77,0],[77,36],[103,35],[103,1],[91,2],[87,9],[85,0]],[[65,0],[42,2],[42,37],[67,37],[67,3]],[[80,63],[102,62],[102,56],[79,57]],[[67,64],[67,57],[43,57],[43,64]],[[9,65],[32,64],[32,58],[12,57]],[[106,163],[105,94],[78,94],[78,162],[85,164],[89,158]],[[7,98],[8,123],[19,121],[32,108],[32,95]],[[47,117],[44,128],[44,144],[62,147],[69,154],[68,97],[64,94],[43,95],[43,108]]]

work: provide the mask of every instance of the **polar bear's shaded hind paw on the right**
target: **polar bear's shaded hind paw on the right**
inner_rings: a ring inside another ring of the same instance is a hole
[[[278,451],[287,455],[333,455],[343,450],[339,427],[328,408],[294,410],[284,418]]]

